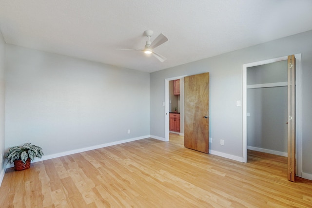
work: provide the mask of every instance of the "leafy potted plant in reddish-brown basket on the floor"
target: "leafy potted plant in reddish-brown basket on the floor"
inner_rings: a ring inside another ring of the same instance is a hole
[[[30,161],[35,157],[41,158],[43,155],[42,148],[25,143],[23,146],[15,146],[9,149],[5,154],[5,158],[11,164],[14,163],[14,170],[25,170],[30,168]]]

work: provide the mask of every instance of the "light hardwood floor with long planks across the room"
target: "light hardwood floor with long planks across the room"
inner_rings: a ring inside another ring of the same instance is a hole
[[[286,158],[241,163],[143,139],[6,170],[0,208],[312,207],[312,181],[287,181]]]

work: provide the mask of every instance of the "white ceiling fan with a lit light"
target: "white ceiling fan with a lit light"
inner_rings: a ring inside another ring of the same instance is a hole
[[[154,51],[154,48],[168,41],[168,38],[163,34],[159,34],[153,42],[150,41],[151,36],[153,35],[152,30],[146,30],[144,35],[147,36],[147,41],[144,49],[119,49],[118,51],[143,51],[145,54],[153,54],[159,61],[164,62],[167,58],[157,54]]]

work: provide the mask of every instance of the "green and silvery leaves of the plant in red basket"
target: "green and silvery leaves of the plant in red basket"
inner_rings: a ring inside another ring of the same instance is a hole
[[[9,149],[9,152],[5,154],[5,158],[12,164],[15,160],[21,160],[26,164],[26,160],[34,160],[35,157],[41,158],[43,155],[42,148],[32,145],[31,143],[25,143],[23,146],[15,146]]]

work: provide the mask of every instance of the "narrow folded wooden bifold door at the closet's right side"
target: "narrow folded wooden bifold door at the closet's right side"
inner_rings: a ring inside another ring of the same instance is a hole
[[[288,180],[294,182],[296,174],[296,151],[295,151],[295,57],[288,56]]]

